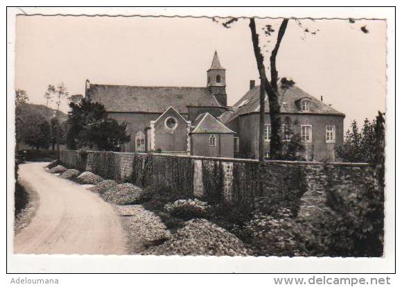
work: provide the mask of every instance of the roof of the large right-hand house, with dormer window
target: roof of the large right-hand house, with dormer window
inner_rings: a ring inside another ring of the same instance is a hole
[[[344,116],[341,112],[338,112],[330,105],[323,103],[322,101],[307,94],[297,86],[290,87],[288,89],[282,89],[278,87],[279,103],[281,104],[281,112],[290,114],[331,114]],[[220,116],[222,123],[229,123],[237,116],[242,114],[249,114],[251,112],[259,112],[260,110],[260,86],[256,86],[250,89],[237,103],[233,106],[233,112],[227,111]],[[308,98],[311,101],[310,112],[301,112],[297,107],[297,101],[302,98]],[[270,112],[270,106],[268,103],[268,96],[265,95],[265,112]]]

